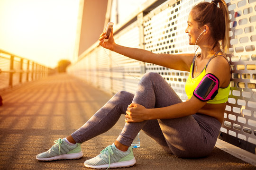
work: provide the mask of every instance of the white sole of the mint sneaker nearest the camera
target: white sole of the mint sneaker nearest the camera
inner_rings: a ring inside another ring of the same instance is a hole
[[[111,163],[110,168],[125,168],[125,167],[133,166],[135,163],[136,163],[136,160],[135,158],[133,158],[130,161],[121,161],[121,162]],[[105,169],[109,167],[109,164],[93,166],[93,165],[86,165],[84,162],[84,166],[87,168],[93,168],[93,169]]]

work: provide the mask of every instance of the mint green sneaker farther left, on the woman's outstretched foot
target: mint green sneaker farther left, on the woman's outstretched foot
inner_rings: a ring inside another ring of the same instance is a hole
[[[37,160],[53,161],[60,159],[79,159],[83,156],[81,145],[70,145],[65,142],[65,139],[59,138],[54,141],[55,145],[44,153],[37,155]]]

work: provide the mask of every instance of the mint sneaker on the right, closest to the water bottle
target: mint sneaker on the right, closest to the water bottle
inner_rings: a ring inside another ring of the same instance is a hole
[[[130,146],[126,152],[117,150],[115,144],[109,145],[101,151],[98,156],[84,162],[87,168],[121,168],[130,167],[136,163],[135,157]]]

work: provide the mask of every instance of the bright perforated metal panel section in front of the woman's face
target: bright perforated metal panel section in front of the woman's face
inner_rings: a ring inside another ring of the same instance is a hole
[[[145,49],[155,53],[193,53],[185,34],[188,14],[193,1],[167,1],[144,17]],[[172,70],[146,63],[146,71],[157,72],[172,86],[181,99],[186,100],[185,82],[188,72]]]

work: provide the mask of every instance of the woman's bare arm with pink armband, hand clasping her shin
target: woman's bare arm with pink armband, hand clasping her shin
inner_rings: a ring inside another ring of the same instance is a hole
[[[218,65],[218,69],[217,66]],[[219,87],[227,86],[230,80],[229,63],[225,59],[212,59],[207,72],[218,77]],[[146,109],[144,106],[131,103],[126,111],[126,122],[141,122],[149,119],[174,119],[195,114],[207,102],[202,102],[195,96],[186,102],[177,103],[163,108]]]

